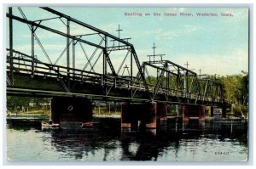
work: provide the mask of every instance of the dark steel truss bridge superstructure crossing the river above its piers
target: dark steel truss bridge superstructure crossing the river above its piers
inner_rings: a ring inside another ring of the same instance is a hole
[[[29,20],[20,7],[14,9],[16,14],[13,9],[9,8],[6,14],[9,20],[9,95],[73,95],[91,99],[156,101],[169,104],[225,103],[223,87],[216,79],[199,78],[194,71],[170,60],[163,60],[161,55],[151,55],[154,59],[141,64],[134,46],[128,42],[130,38],[115,37],[52,8],[38,8],[53,16],[40,20]],[[55,28],[49,21],[61,21],[64,28]],[[26,25],[31,34],[28,37],[31,48],[29,54],[15,50],[14,23]],[[78,26],[84,32],[90,33],[75,34],[73,28]],[[43,30],[49,36],[65,38],[60,55],[51,56],[47,52],[37,34],[38,30]],[[38,48],[41,53],[36,54]],[[78,50],[82,52],[78,54]],[[113,64],[115,56],[120,57],[121,54],[122,62],[118,66]],[[63,58],[65,64],[59,62]],[[82,60],[79,61],[82,67],[78,66],[78,59]]]

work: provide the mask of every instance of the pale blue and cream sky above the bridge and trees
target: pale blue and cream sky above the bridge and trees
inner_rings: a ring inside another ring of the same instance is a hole
[[[169,59],[184,67],[188,62],[189,69],[198,74],[200,70],[201,74],[217,74],[219,76],[240,74],[241,70],[248,71],[247,8],[55,7],[54,9],[102,31],[107,31],[116,37],[118,37],[116,30],[120,26],[122,30],[120,38],[131,37],[129,42],[135,47],[141,63],[148,61],[148,54],[153,54],[152,47],[155,43],[155,54],[165,54],[163,59]],[[17,8],[13,10],[15,15],[21,16]],[[28,20],[55,17],[39,8],[22,7],[22,10]],[[129,16],[125,13],[129,13]],[[156,16],[154,13],[158,15]],[[198,16],[199,13],[209,15]],[[176,14],[176,16],[165,16],[165,14]],[[222,14],[229,14],[229,16],[222,16]],[[65,20],[62,21],[65,23]],[[59,19],[43,21],[41,24],[50,25],[59,31],[66,32],[65,25]],[[39,28],[36,33],[54,63],[66,47],[67,40]],[[71,33],[79,35],[92,33],[92,31],[85,30],[79,25],[71,25]],[[99,36],[84,38],[92,42],[100,42]],[[109,44],[112,43],[109,42]],[[86,58],[79,44],[77,46],[75,65],[76,68],[82,69],[86,65]],[[89,48],[86,45],[83,47],[87,57],[90,57],[94,48]],[[28,31],[27,25],[21,25],[17,21],[14,23],[14,48],[31,54],[31,32]],[[36,44],[35,53],[39,59],[47,61],[38,44]],[[100,54],[100,51],[97,51],[97,54]],[[110,56],[115,70],[118,70],[125,53],[117,52]],[[96,59],[92,61],[94,62]],[[65,55],[61,57],[58,64],[66,64]],[[130,65],[129,60],[125,61],[125,65]],[[94,68],[96,71],[102,71],[102,59]],[[90,66],[87,69],[90,70]]]

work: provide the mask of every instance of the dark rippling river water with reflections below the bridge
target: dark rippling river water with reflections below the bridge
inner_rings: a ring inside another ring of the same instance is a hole
[[[44,131],[8,124],[9,161],[247,161],[247,121],[162,122],[122,130],[118,118],[95,118],[84,130]]]

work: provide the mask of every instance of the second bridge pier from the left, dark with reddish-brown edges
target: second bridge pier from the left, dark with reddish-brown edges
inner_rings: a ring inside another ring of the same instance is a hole
[[[123,103],[121,105],[121,127],[156,128],[157,104]]]

